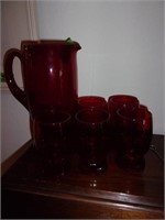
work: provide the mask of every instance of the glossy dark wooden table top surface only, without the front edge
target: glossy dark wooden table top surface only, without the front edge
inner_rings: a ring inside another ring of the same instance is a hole
[[[152,144],[164,155],[164,136],[153,135]],[[2,176],[2,188],[67,198],[119,208],[164,212],[164,164],[151,150],[142,172],[119,168],[113,154],[108,155],[108,170],[101,175],[80,174],[77,154],[72,155],[68,174],[61,178],[37,175],[38,162],[32,142],[14,165]]]

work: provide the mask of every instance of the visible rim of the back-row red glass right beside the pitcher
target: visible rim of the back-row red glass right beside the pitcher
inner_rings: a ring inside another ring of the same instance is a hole
[[[84,109],[100,109],[108,110],[108,103],[103,97],[99,96],[82,96],[78,98],[79,110]]]

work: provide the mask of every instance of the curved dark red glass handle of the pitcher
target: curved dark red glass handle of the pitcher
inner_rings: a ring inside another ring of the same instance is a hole
[[[23,54],[20,50],[11,48],[6,52],[3,59],[4,75],[11,94],[29,110],[25,91],[19,88],[13,75],[13,59],[18,57],[23,65]]]

